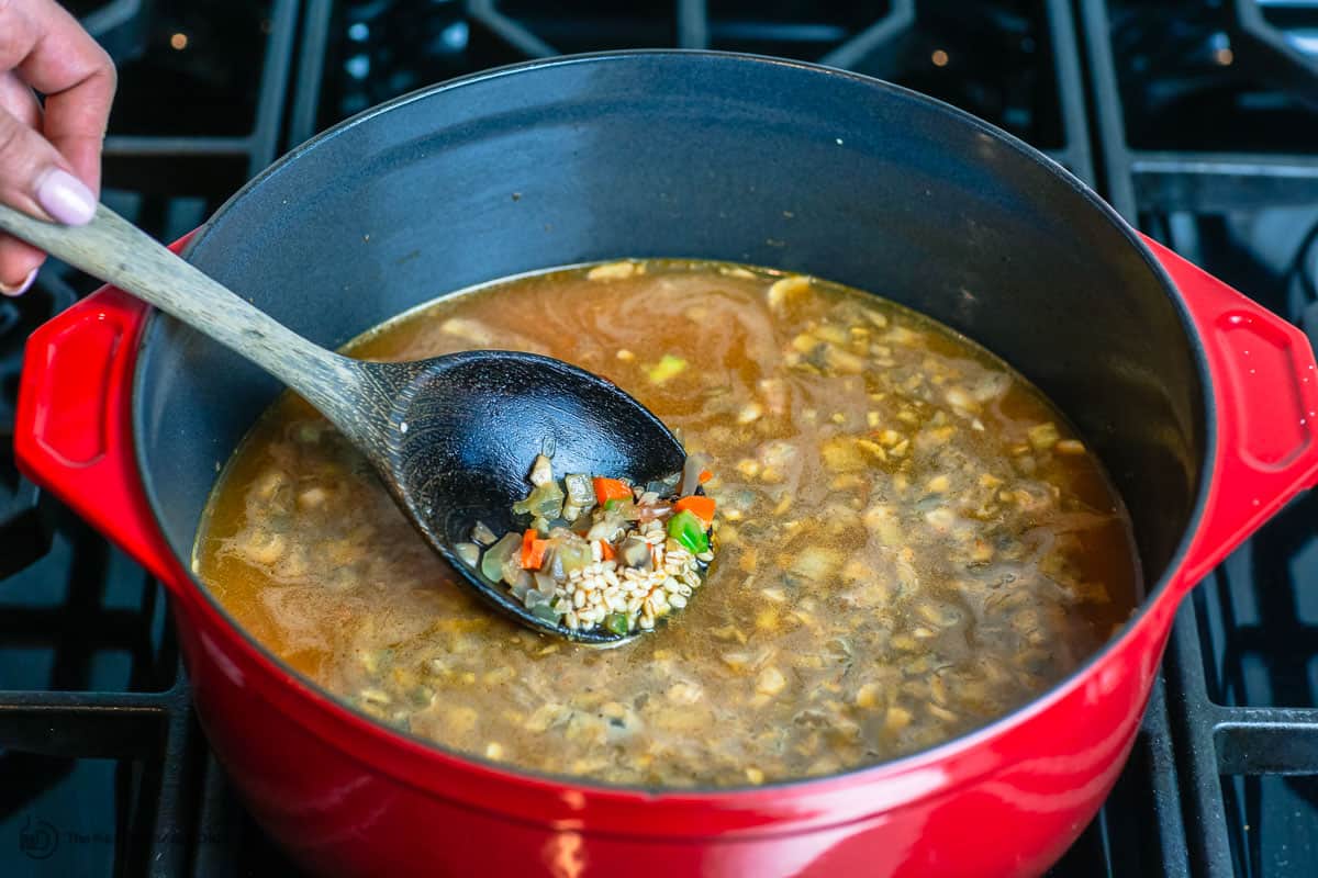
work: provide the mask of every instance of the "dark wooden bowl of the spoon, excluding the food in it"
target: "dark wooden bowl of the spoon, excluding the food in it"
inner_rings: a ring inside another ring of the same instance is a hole
[[[382,379],[397,380],[398,363],[387,366]],[[538,354],[473,350],[407,366],[415,371],[394,392],[387,482],[430,545],[482,600],[529,628],[598,646],[637,637],[571,631],[532,615],[453,545],[469,541],[477,521],[494,533],[526,527],[511,507],[530,490],[526,474],[540,453],[558,473],[639,484],[681,470],[685,454],[668,428],[612,382]]]

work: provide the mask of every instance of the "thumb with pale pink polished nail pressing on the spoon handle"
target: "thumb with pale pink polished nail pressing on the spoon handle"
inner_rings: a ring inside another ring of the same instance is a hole
[[[36,129],[0,108],[0,201],[66,225],[83,225],[96,196]]]

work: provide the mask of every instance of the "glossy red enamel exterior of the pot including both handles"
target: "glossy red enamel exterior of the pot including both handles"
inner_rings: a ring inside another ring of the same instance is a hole
[[[40,328],[14,448],[173,595],[206,732],[266,831],[324,874],[1036,875],[1107,796],[1185,591],[1318,478],[1301,333],[1149,242],[1203,342],[1215,399],[1206,512],[1170,582],[1060,687],[934,750],[751,791],[645,794],[515,774],[320,695],[233,628],[153,523],[130,387],[145,307],[103,290]]]

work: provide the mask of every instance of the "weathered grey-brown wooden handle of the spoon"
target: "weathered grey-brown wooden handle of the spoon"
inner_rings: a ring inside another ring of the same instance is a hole
[[[243,354],[332,421],[358,421],[356,361],[311,344],[174,255],[104,204],[87,225],[57,225],[0,204],[0,229],[108,280]]]

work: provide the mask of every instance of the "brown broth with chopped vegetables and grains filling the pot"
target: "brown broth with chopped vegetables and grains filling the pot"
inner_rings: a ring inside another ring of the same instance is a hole
[[[613,263],[447,296],[348,350],[485,346],[605,375],[708,454],[717,558],[633,645],[542,638],[455,584],[365,462],[281,398],[217,482],[195,567],[293,667],[419,737],[610,783],[829,774],[1028,702],[1136,603],[1130,520],[1065,419],[883,299]],[[687,366],[655,383],[664,354]]]

